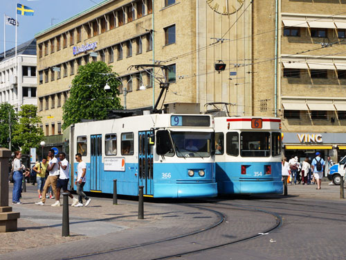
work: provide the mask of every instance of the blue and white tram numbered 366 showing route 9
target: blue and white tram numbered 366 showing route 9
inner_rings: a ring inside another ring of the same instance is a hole
[[[210,115],[148,114],[76,123],[70,156],[86,162],[84,191],[155,198],[217,196]],[[156,138],[154,138],[156,137]],[[77,171],[77,163],[71,165]],[[71,179],[73,180],[73,179]]]

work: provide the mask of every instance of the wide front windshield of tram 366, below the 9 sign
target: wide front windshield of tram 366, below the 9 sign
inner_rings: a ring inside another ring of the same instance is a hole
[[[171,131],[171,136],[178,157],[210,157],[212,132]]]

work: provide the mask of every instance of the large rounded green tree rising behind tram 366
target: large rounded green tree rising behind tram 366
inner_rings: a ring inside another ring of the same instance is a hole
[[[122,109],[120,105],[118,74],[104,62],[80,66],[72,80],[70,96],[62,107],[63,129],[82,119],[107,119],[109,110]],[[110,90],[104,90],[108,83]]]

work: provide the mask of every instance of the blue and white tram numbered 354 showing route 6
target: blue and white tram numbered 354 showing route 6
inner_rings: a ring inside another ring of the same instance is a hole
[[[280,119],[215,117],[219,194],[282,193]]]

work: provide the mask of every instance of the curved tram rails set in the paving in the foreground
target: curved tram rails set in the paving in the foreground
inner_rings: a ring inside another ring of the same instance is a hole
[[[271,227],[268,227],[260,232],[257,232],[257,234],[252,234],[250,236],[246,236],[243,237],[241,239],[236,239],[233,241],[227,241],[224,243],[219,243],[217,245],[211,245],[211,246],[207,246],[205,248],[199,248],[199,249],[194,249],[194,250],[186,250],[185,252],[179,252],[176,254],[170,254],[167,256],[163,256],[163,257],[150,257],[149,259],[152,260],[158,260],[158,259],[174,259],[176,257],[183,257],[185,255],[191,255],[191,254],[197,254],[200,252],[206,252],[208,250],[213,250],[216,248],[221,248],[227,245],[233,245],[236,243],[242,243],[245,241],[249,241],[251,239],[256,239],[260,236],[263,236],[264,234],[268,234],[270,232],[273,232],[273,230],[279,228],[282,225],[282,217],[278,214],[275,214],[274,212],[271,211],[266,211],[264,209],[260,209],[258,207],[251,207],[251,206],[246,206],[246,205],[233,205],[231,203],[226,203],[226,205],[218,205],[218,203],[216,202],[212,202],[212,205],[182,205],[184,207],[193,207],[194,209],[201,209],[201,210],[206,210],[206,211],[210,211],[213,212],[216,216],[217,216],[217,221],[215,221],[215,223],[213,223],[212,225],[208,226],[208,227],[203,227],[202,229],[198,229],[194,232],[189,232],[186,234],[182,234],[179,236],[172,236],[170,238],[167,239],[160,239],[157,241],[152,241],[152,242],[148,242],[148,243],[140,243],[137,245],[131,245],[128,247],[124,247],[124,248],[116,248],[113,250],[106,250],[106,251],[102,251],[102,252],[93,252],[93,253],[89,253],[89,254],[82,254],[76,257],[70,257],[70,258],[66,258],[67,259],[89,259],[89,258],[93,258],[93,257],[98,257],[103,255],[107,255],[107,254],[112,254],[112,253],[116,253],[116,252],[126,252],[126,250],[133,250],[136,248],[143,248],[143,247],[149,247],[150,245],[158,245],[161,243],[165,243],[165,242],[169,242],[169,241],[174,241],[177,239],[183,239],[185,237],[189,237],[189,236],[197,236],[203,232],[208,232],[211,229],[215,229],[215,227],[220,227],[222,226],[221,224],[225,222],[225,216],[224,214],[221,212],[221,210],[229,210],[229,209],[237,209],[237,210],[242,210],[242,211],[260,211],[264,214],[268,214],[271,215],[275,218],[275,225],[272,225]]]

